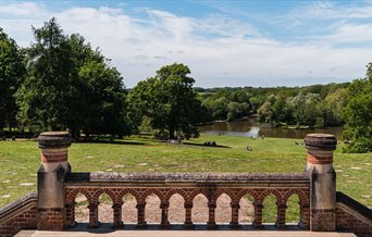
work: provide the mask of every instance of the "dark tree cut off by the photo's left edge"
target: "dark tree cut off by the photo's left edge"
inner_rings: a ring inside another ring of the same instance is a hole
[[[0,132],[5,126],[16,125],[14,93],[25,74],[23,53],[16,42],[0,28]]]

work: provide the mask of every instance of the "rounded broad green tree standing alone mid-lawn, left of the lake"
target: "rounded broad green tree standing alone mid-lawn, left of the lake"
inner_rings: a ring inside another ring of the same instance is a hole
[[[193,89],[195,80],[188,74],[188,66],[174,63],[161,67],[154,77],[138,83],[128,96],[132,120],[140,123],[146,116],[152,128],[166,129],[171,139],[176,133],[186,138],[198,136],[196,124],[203,122],[206,109],[197,99]]]

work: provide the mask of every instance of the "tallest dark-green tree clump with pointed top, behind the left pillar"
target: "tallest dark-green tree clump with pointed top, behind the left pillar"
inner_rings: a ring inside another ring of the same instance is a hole
[[[18,120],[39,129],[86,135],[124,134],[125,88],[120,73],[79,35],[63,34],[55,18],[33,28],[29,75],[17,92]]]

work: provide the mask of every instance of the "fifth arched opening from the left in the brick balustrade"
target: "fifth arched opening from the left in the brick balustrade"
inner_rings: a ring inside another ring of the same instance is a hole
[[[170,198],[170,208],[168,210],[168,220],[171,224],[184,224],[186,210],[184,208],[185,200],[184,198],[175,194]]]

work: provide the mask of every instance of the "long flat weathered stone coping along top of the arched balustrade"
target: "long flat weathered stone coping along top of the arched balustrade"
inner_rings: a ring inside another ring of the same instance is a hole
[[[65,183],[310,183],[307,173],[67,173]]]

